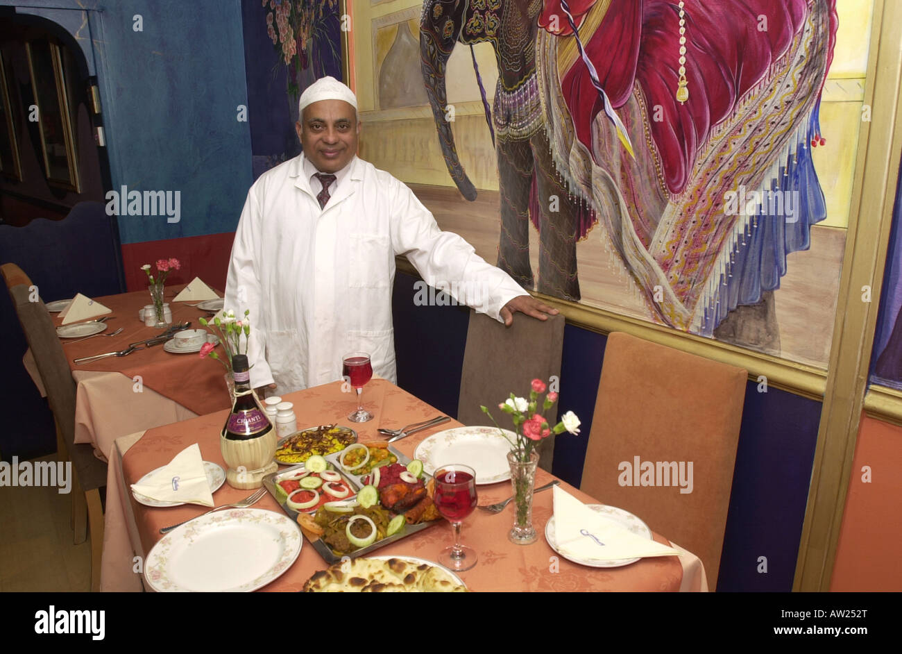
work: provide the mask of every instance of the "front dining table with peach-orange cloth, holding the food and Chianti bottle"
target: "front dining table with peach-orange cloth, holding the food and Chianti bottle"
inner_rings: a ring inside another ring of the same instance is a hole
[[[350,423],[346,417],[356,409],[357,396],[343,382],[331,382],[286,394],[283,399],[294,404],[299,428],[319,425],[343,425],[354,428],[358,442],[383,440],[377,428],[400,428],[431,419],[440,412],[413,394],[383,379],[373,378],[364,387],[364,409],[373,419]],[[223,389],[223,394],[226,390]],[[152,590],[143,570],[154,545],[163,538],[160,530],[207,511],[197,504],[151,507],[137,502],[131,484],[143,475],[167,465],[185,448],[197,443],[205,461],[226,467],[220,452],[220,431],[228,410],[218,410],[197,418],[149,428],[117,438],[108,466],[106,494],[106,529],[101,573],[102,591]],[[447,428],[462,427],[454,419],[428,428],[392,444],[405,456],[414,455],[426,438]],[[565,435],[566,436],[566,435]],[[571,435],[568,438],[586,438]],[[460,462],[466,463],[466,462]],[[281,468],[287,469],[287,468]],[[554,475],[538,469],[536,486],[547,484]],[[560,481],[560,487],[588,504],[602,503],[579,489]],[[251,491],[222,485],[213,500],[216,506],[237,502]],[[480,505],[500,502],[511,496],[511,482],[500,481],[477,487]],[[462,542],[474,548],[478,561],[474,567],[457,575],[470,591],[475,592],[594,592],[594,591],[707,591],[704,566],[698,557],[680,548],[662,535],[652,532],[659,543],[670,545],[680,556],[647,557],[624,566],[593,567],[573,563],[548,545],[545,528],[554,511],[553,493],[535,493],[533,524],[538,539],[530,545],[518,545],[508,539],[514,519],[514,502],[500,513],[474,510],[464,519]],[[285,515],[270,493],[253,505],[254,509],[275,511]],[[641,516],[640,516],[641,518]],[[437,561],[439,553],[452,542],[449,523],[437,520],[434,526],[398,539],[373,554],[393,557],[417,557]],[[240,564],[240,562],[236,562]],[[328,567],[327,561],[303,539],[298,557],[280,576],[264,585],[262,591],[292,592],[303,589],[310,576]]]

